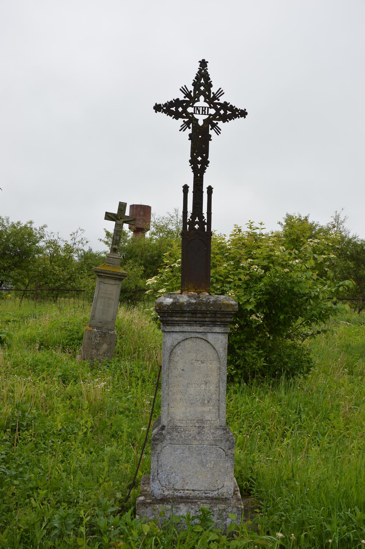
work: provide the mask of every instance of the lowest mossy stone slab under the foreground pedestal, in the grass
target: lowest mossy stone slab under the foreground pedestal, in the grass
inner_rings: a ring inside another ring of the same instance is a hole
[[[243,522],[250,520],[253,513],[251,498],[247,498],[247,505],[244,505],[239,488],[235,478],[233,479],[234,489],[233,496],[229,498],[219,497],[174,497],[174,498],[156,498],[151,496],[149,491],[150,475],[143,475],[141,480],[141,494],[137,498],[136,513],[139,517],[148,517],[156,519],[161,524],[168,520],[173,514],[174,516],[186,516],[189,511],[191,515],[200,514],[200,507],[209,507],[212,512],[212,519],[215,521],[217,528],[221,528],[223,533],[227,532],[228,525],[232,522],[240,524],[243,517]],[[165,516],[161,517],[160,512],[164,511]],[[237,515],[236,520],[232,520],[228,513]],[[194,523],[198,520],[195,519]],[[184,528],[183,520],[180,525]]]

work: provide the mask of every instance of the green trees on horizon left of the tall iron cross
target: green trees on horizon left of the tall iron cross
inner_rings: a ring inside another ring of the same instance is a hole
[[[0,217],[0,288],[84,289],[93,292],[96,275],[111,244],[112,233],[104,229],[99,239],[103,251],[88,247],[85,231],[78,228],[69,239],[36,227],[32,221],[21,223]],[[133,238],[123,231],[120,245],[122,268],[128,273],[123,289],[144,288],[145,280],[154,276],[163,264],[164,254],[181,231],[178,210],[153,216],[151,230],[145,238]]]

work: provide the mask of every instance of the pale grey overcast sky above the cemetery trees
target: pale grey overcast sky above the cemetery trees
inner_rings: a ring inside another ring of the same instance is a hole
[[[345,208],[365,238],[364,44],[363,0],[0,0],[0,215],[103,249],[119,201],[181,209],[188,132],[153,105],[205,58],[248,111],[212,136],[212,226]]]

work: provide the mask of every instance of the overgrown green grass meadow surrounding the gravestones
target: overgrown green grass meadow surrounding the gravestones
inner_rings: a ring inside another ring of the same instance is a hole
[[[227,386],[235,477],[254,502],[227,536],[209,510],[144,523],[126,502],[148,424],[161,332],[120,307],[115,357],[77,362],[89,305],[0,302],[0,547],[365,547],[365,318],[310,340],[305,377]],[[154,418],[160,410],[160,393]]]

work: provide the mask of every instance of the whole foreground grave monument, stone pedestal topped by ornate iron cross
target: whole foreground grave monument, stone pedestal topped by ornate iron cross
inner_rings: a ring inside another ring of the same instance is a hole
[[[199,514],[209,507],[217,526],[227,531],[244,508],[234,478],[234,436],[226,424],[227,335],[237,303],[226,295],[209,295],[212,187],[203,214],[203,178],[209,160],[209,130],[218,122],[245,118],[245,109],[220,102],[200,61],[193,91],[183,99],[155,104],[156,113],[182,119],[189,128],[193,178],[192,214],[188,220],[187,184],[183,186],[181,292],[155,302],[162,330],[161,416],[151,435],[151,474],[141,481],[137,513],[157,518]],[[172,502],[172,503],[171,503]]]

